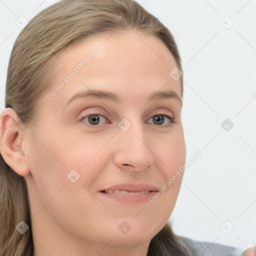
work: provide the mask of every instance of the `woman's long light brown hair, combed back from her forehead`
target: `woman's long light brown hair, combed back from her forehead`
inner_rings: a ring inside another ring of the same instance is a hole
[[[56,53],[103,31],[136,29],[160,38],[182,71],[177,45],[170,31],[133,0],[61,0],[37,14],[20,32],[13,46],[6,80],[5,107],[20,121],[32,122],[36,99],[46,90]],[[183,80],[180,77],[181,97]],[[0,155],[0,255],[33,255],[31,228],[20,234],[15,226],[30,225],[26,182]],[[166,224],[150,241],[147,255],[189,255]]]

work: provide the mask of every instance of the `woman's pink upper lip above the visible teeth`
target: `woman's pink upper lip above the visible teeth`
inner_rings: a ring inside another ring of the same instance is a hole
[[[104,190],[125,190],[129,192],[139,192],[139,191],[147,191],[147,190],[158,191],[159,189],[157,188],[157,186],[150,183],[137,183],[137,184],[121,183],[121,184],[106,186],[100,191],[104,191]]]

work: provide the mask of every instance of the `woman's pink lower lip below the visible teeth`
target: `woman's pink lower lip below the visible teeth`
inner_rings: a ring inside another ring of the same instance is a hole
[[[99,192],[105,198],[114,199],[123,203],[143,203],[149,202],[149,197],[153,196],[157,191],[151,191],[147,194],[116,194],[116,193],[104,193]]]

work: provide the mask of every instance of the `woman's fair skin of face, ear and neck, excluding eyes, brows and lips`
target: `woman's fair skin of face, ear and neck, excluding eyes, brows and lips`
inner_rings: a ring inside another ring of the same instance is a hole
[[[94,48],[99,53],[47,99]],[[160,39],[138,31],[98,34],[58,58],[65,65],[55,58],[33,123],[22,131],[12,109],[0,115],[1,154],[28,188],[34,255],[146,255],[150,239],[173,211],[183,174],[154,202],[123,203],[99,190],[125,182],[160,188],[185,163],[181,103],[147,100],[156,91],[181,96],[180,81],[169,75],[175,60]],[[88,88],[114,92],[120,102],[90,96],[66,106],[75,92]],[[92,113],[101,116],[98,126],[79,120]],[[174,120],[155,124],[157,114]],[[122,118],[131,123],[125,132],[118,127]],[[80,174],[75,183],[66,176],[72,169]],[[125,234],[118,228],[123,221],[131,227]]]

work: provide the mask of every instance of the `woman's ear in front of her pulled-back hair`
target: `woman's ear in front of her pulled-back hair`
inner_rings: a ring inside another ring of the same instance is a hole
[[[0,113],[0,153],[4,161],[19,175],[29,174],[24,154],[24,131],[16,112],[5,108]]]

